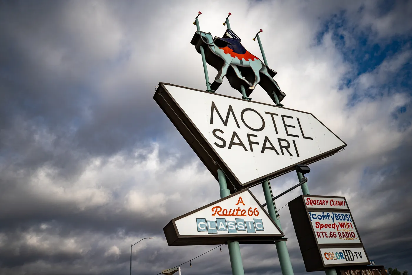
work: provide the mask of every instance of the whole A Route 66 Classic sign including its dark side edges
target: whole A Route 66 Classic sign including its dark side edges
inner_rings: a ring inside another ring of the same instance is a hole
[[[169,246],[273,243],[284,237],[248,189],[175,218],[163,230]]]

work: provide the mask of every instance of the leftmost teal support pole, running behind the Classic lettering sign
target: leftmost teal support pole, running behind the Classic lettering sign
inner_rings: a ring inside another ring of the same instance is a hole
[[[220,198],[223,199],[230,195],[230,190],[227,188],[226,176],[222,170],[218,169],[218,179],[220,186]],[[229,248],[230,266],[232,266],[233,275],[245,275],[243,270],[242,256],[240,254],[239,242],[227,242]]]

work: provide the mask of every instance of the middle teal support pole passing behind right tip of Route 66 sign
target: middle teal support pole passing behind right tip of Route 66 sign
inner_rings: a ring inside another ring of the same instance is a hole
[[[276,210],[276,205],[273,201],[273,194],[270,188],[269,180],[262,183],[263,194],[265,194],[265,200],[267,205],[267,211],[269,216],[275,221],[276,225],[282,230],[281,221],[279,220],[279,215]],[[283,275],[293,275],[292,263],[290,262],[288,247],[285,241],[276,242],[276,251],[278,252],[279,263],[281,265],[281,270]]]

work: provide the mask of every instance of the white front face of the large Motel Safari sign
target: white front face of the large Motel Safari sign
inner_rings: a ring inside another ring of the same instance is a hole
[[[164,87],[241,185],[346,146],[309,113]]]

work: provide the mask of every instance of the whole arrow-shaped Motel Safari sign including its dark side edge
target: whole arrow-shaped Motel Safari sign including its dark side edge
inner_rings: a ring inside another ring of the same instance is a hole
[[[335,154],[346,144],[312,114],[159,83],[155,101],[211,173],[251,187]]]

